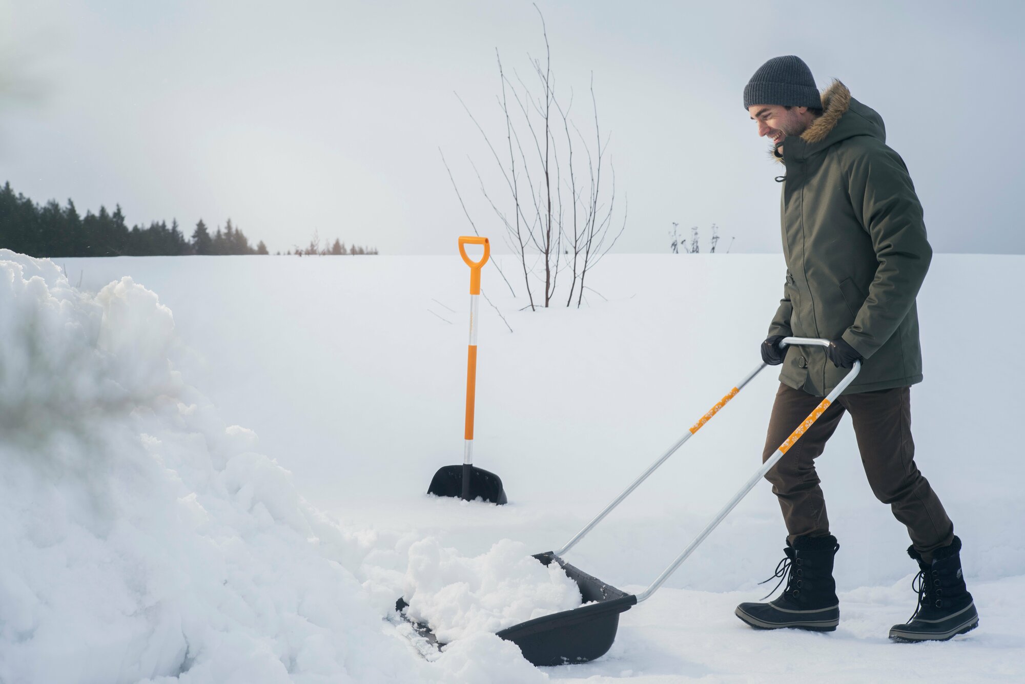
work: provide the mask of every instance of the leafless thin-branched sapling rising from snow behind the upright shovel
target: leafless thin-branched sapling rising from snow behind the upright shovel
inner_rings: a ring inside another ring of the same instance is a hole
[[[589,115],[593,130],[584,133],[571,117],[572,90],[565,105],[557,93],[547,29],[539,9],[538,15],[544,57],[530,58],[529,80],[533,85],[528,85],[515,70],[510,78],[495,51],[501,84],[496,99],[505,137],[501,152],[459,98],[500,174],[503,187],[495,195],[477,165],[473,160],[469,162],[486,205],[504,228],[502,242],[517,257],[532,310],[551,306],[556,301],[561,271],[569,272],[566,306],[572,306],[575,300],[579,307],[584,291],[589,290],[584,285],[587,272],[612,249],[626,227],[625,204],[621,222],[616,205],[615,169],[608,156],[610,136],[603,137],[599,126],[593,75]],[[463,214],[475,234],[480,234],[444,156],[442,161]],[[504,273],[502,277],[516,296]]]

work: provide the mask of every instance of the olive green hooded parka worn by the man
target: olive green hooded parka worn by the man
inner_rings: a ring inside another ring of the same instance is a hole
[[[907,167],[883,118],[839,81],[823,113],[774,156],[782,182],[786,284],[769,335],[843,337],[864,357],[845,393],[921,381],[915,297],[932,248]],[[848,371],[822,347],[790,347],[780,380],[823,396]]]

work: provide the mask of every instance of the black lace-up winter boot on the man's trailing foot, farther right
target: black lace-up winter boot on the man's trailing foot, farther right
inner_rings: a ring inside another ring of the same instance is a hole
[[[918,607],[904,625],[890,628],[894,641],[946,641],[979,627],[979,613],[965,586],[960,567],[960,540],[933,552],[933,562],[908,547],[907,555],[918,562],[919,572],[911,588],[918,592]]]

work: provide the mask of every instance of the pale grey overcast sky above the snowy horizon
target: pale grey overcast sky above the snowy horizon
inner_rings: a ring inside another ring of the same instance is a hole
[[[779,168],[742,108],[769,57],[797,54],[887,123],[939,252],[1025,253],[1018,148],[1022,2],[540,1],[557,92],[587,130],[593,74],[625,252],[671,223],[778,252]],[[228,217],[272,252],[322,239],[452,253],[504,229],[489,134],[505,69],[543,56],[529,2],[0,0],[0,182],[129,224]],[[1012,123],[1004,127],[1004,123]],[[621,206],[621,205],[620,205]],[[706,246],[703,246],[706,249]]]

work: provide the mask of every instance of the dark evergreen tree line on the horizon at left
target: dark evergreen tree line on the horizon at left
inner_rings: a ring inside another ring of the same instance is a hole
[[[319,250],[316,237],[311,248],[315,242]],[[71,200],[64,207],[54,200],[39,205],[22,194],[15,195],[10,181],[0,188],[0,248],[33,257],[268,254],[263,241],[251,246],[242,229],[232,224],[232,219],[212,234],[200,219],[192,238],[187,239],[174,219],[170,225],[152,221],[149,226],[129,228],[120,205],[114,213],[101,206],[99,213],[86,211],[82,216]],[[296,254],[299,253],[296,248]],[[346,250],[335,240],[331,249],[304,253],[376,254],[377,250],[355,246]]]

